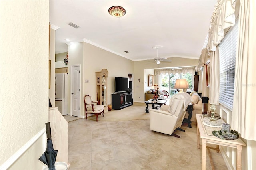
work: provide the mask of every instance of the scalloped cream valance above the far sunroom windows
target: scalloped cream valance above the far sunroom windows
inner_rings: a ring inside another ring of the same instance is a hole
[[[155,75],[161,75],[161,74],[163,74],[163,75],[166,75],[166,74],[168,74],[168,75],[170,75],[171,73],[172,74],[176,74],[176,73],[178,73],[178,74],[180,74],[180,73],[190,73],[190,74],[192,74],[192,75],[194,75],[195,74],[195,67],[183,67],[182,69],[155,69]]]

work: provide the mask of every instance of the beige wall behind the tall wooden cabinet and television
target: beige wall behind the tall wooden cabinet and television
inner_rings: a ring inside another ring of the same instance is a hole
[[[120,57],[114,53],[84,43],[84,77],[82,79],[83,96],[88,94],[92,100],[96,100],[96,75],[102,69],[108,70],[108,104],[112,104],[112,95],[115,92],[115,77],[128,77],[134,73],[133,61]],[[84,83],[85,80],[88,83]],[[83,109],[84,110],[84,109]]]

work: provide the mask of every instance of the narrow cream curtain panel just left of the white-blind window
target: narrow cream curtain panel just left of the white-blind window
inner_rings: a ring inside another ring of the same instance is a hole
[[[219,47],[216,46],[216,51],[210,52],[210,87],[209,87],[209,103],[213,105],[219,104],[220,98],[220,59]]]

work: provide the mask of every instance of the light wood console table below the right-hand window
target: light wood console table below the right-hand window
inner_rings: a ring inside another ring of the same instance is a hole
[[[242,141],[241,138],[236,140],[224,140],[217,138],[212,134],[213,130],[220,130],[221,128],[217,127],[208,127],[203,124],[203,115],[196,114],[197,121],[197,148],[200,148],[200,138],[202,138],[202,170],[206,169],[206,143],[216,144],[216,150],[218,151],[218,147],[227,146],[231,148],[236,148],[236,169],[242,170],[242,146],[246,146],[246,144]]]

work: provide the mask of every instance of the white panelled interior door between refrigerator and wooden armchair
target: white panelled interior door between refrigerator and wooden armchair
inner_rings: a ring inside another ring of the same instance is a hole
[[[80,117],[80,65],[71,66],[71,115]]]

